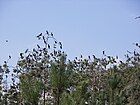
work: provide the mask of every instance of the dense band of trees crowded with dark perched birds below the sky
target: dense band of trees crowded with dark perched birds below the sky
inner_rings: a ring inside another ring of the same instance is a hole
[[[102,58],[81,55],[68,60],[53,33],[46,31],[37,38],[44,46],[20,53],[12,73],[11,56],[0,66],[0,105],[139,105],[138,43],[124,61],[105,51]]]

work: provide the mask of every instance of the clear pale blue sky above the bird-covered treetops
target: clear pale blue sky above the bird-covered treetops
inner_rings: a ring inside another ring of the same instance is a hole
[[[53,32],[68,58],[102,51],[120,58],[140,43],[139,0],[0,0],[0,65]],[[6,42],[8,40],[8,42]]]

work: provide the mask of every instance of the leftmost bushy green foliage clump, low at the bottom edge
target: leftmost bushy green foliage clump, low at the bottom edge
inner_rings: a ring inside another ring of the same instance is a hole
[[[20,76],[20,91],[23,102],[28,105],[38,105],[43,90],[42,81],[30,74]]]

